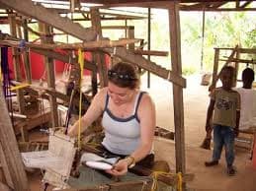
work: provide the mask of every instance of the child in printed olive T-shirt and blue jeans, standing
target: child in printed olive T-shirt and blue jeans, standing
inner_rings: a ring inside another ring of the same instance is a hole
[[[222,147],[225,147],[227,174],[234,175],[234,138],[238,135],[240,119],[240,96],[232,90],[234,68],[224,66],[220,73],[222,87],[213,90],[207,114],[206,131],[211,130],[213,115],[213,159],[206,166],[218,164]],[[213,112],[214,111],[214,112]]]

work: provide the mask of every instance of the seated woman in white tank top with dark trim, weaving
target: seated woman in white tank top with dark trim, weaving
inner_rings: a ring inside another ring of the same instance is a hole
[[[81,132],[102,115],[105,132],[102,146],[122,158],[106,172],[124,175],[134,164],[153,164],[155,106],[150,96],[139,91],[139,79],[131,65],[116,64],[109,70],[108,80],[108,87],[93,98],[81,118]],[[78,121],[68,131],[70,136],[77,133]]]

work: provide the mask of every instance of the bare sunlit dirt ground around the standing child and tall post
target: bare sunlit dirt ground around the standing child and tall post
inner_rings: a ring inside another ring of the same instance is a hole
[[[142,81],[145,82],[145,79]],[[252,168],[250,154],[246,150],[236,149],[235,176],[226,175],[223,153],[217,166],[205,167],[204,162],[211,159],[212,151],[203,150],[199,146],[205,136],[209,93],[208,87],[200,86],[200,82],[200,75],[188,77],[187,88],[184,90],[186,169],[195,174],[195,179],[188,183],[188,187],[197,191],[255,191],[256,169]],[[142,83],[141,89],[148,92],[156,103],[157,125],[174,130],[171,83],[151,77],[151,88],[147,89]],[[175,171],[174,145],[173,141],[155,139],[156,158],[167,160]],[[40,177],[39,174],[29,175],[32,190],[43,190]]]

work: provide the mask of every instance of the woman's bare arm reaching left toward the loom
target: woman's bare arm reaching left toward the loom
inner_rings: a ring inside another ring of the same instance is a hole
[[[81,118],[81,132],[83,132],[89,125],[91,125],[98,117],[101,116],[104,105],[107,89],[101,90],[96,96],[94,96],[88,110]],[[79,120],[75,122],[68,130],[69,136],[76,136],[78,134]]]

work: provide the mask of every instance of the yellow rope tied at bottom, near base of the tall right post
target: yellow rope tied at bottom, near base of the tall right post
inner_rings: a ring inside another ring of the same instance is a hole
[[[151,191],[156,191],[157,190],[157,183],[158,183],[158,177],[159,175],[174,175],[177,176],[177,191],[182,191],[182,173],[170,173],[170,172],[163,172],[163,171],[154,171],[152,173],[152,178],[153,178],[153,183],[151,186]]]

